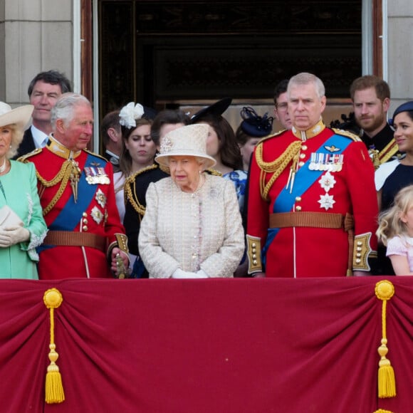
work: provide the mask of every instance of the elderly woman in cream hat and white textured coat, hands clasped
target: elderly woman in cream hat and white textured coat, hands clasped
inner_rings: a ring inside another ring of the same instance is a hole
[[[232,277],[244,253],[234,184],[206,174],[208,125],[179,127],[160,142],[155,159],[171,176],[151,183],[139,234],[150,278]]]

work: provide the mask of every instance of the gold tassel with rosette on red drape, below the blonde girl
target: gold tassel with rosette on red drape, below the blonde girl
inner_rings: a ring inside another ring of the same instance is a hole
[[[394,370],[390,360],[386,357],[389,349],[387,348],[386,337],[386,305],[387,300],[390,300],[394,295],[394,286],[390,281],[379,281],[376,284],[375,293],[377,298],[383,301],[382,304],[382,341],[380,347],[377,349],[380,355],[379,375],[378,375],[378,391],[379,397],[385,399],[387,397],[394,397],[396,395],[396,379],[394,377]]]

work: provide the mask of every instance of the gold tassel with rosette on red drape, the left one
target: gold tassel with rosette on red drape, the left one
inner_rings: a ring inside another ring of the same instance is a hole
[[[54,333],[54,309],[58,308],[63,301],[61,292],[56,288],[51,288],[46,291],[43,296],[43,302],[46,308],[50,308],[50,352],[48,358],[51,361],[47,367],[46,373],[46,403],[61,403],[65,400],[65,393],[63,391],[63,383],[59,367],[56,365],[58,360],[58,352],[56,352],[55,333]]]

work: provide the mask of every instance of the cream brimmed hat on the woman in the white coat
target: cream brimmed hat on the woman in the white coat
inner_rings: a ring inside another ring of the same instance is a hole
[[[192,156],[204,159],[204,168],[209,169],[216,164],[213,157],[206,155],[206,139],[209,125],[197,123],[178,127],[162,137],[160,142],[160,155],[155,160],[167,167],[169,157]]]

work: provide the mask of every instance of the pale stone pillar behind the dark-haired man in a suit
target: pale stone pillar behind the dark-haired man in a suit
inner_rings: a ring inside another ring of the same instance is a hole
[[[51,69],[73,76],[72,1],[0,1],[0,100],[28,103],[28,83]]]

